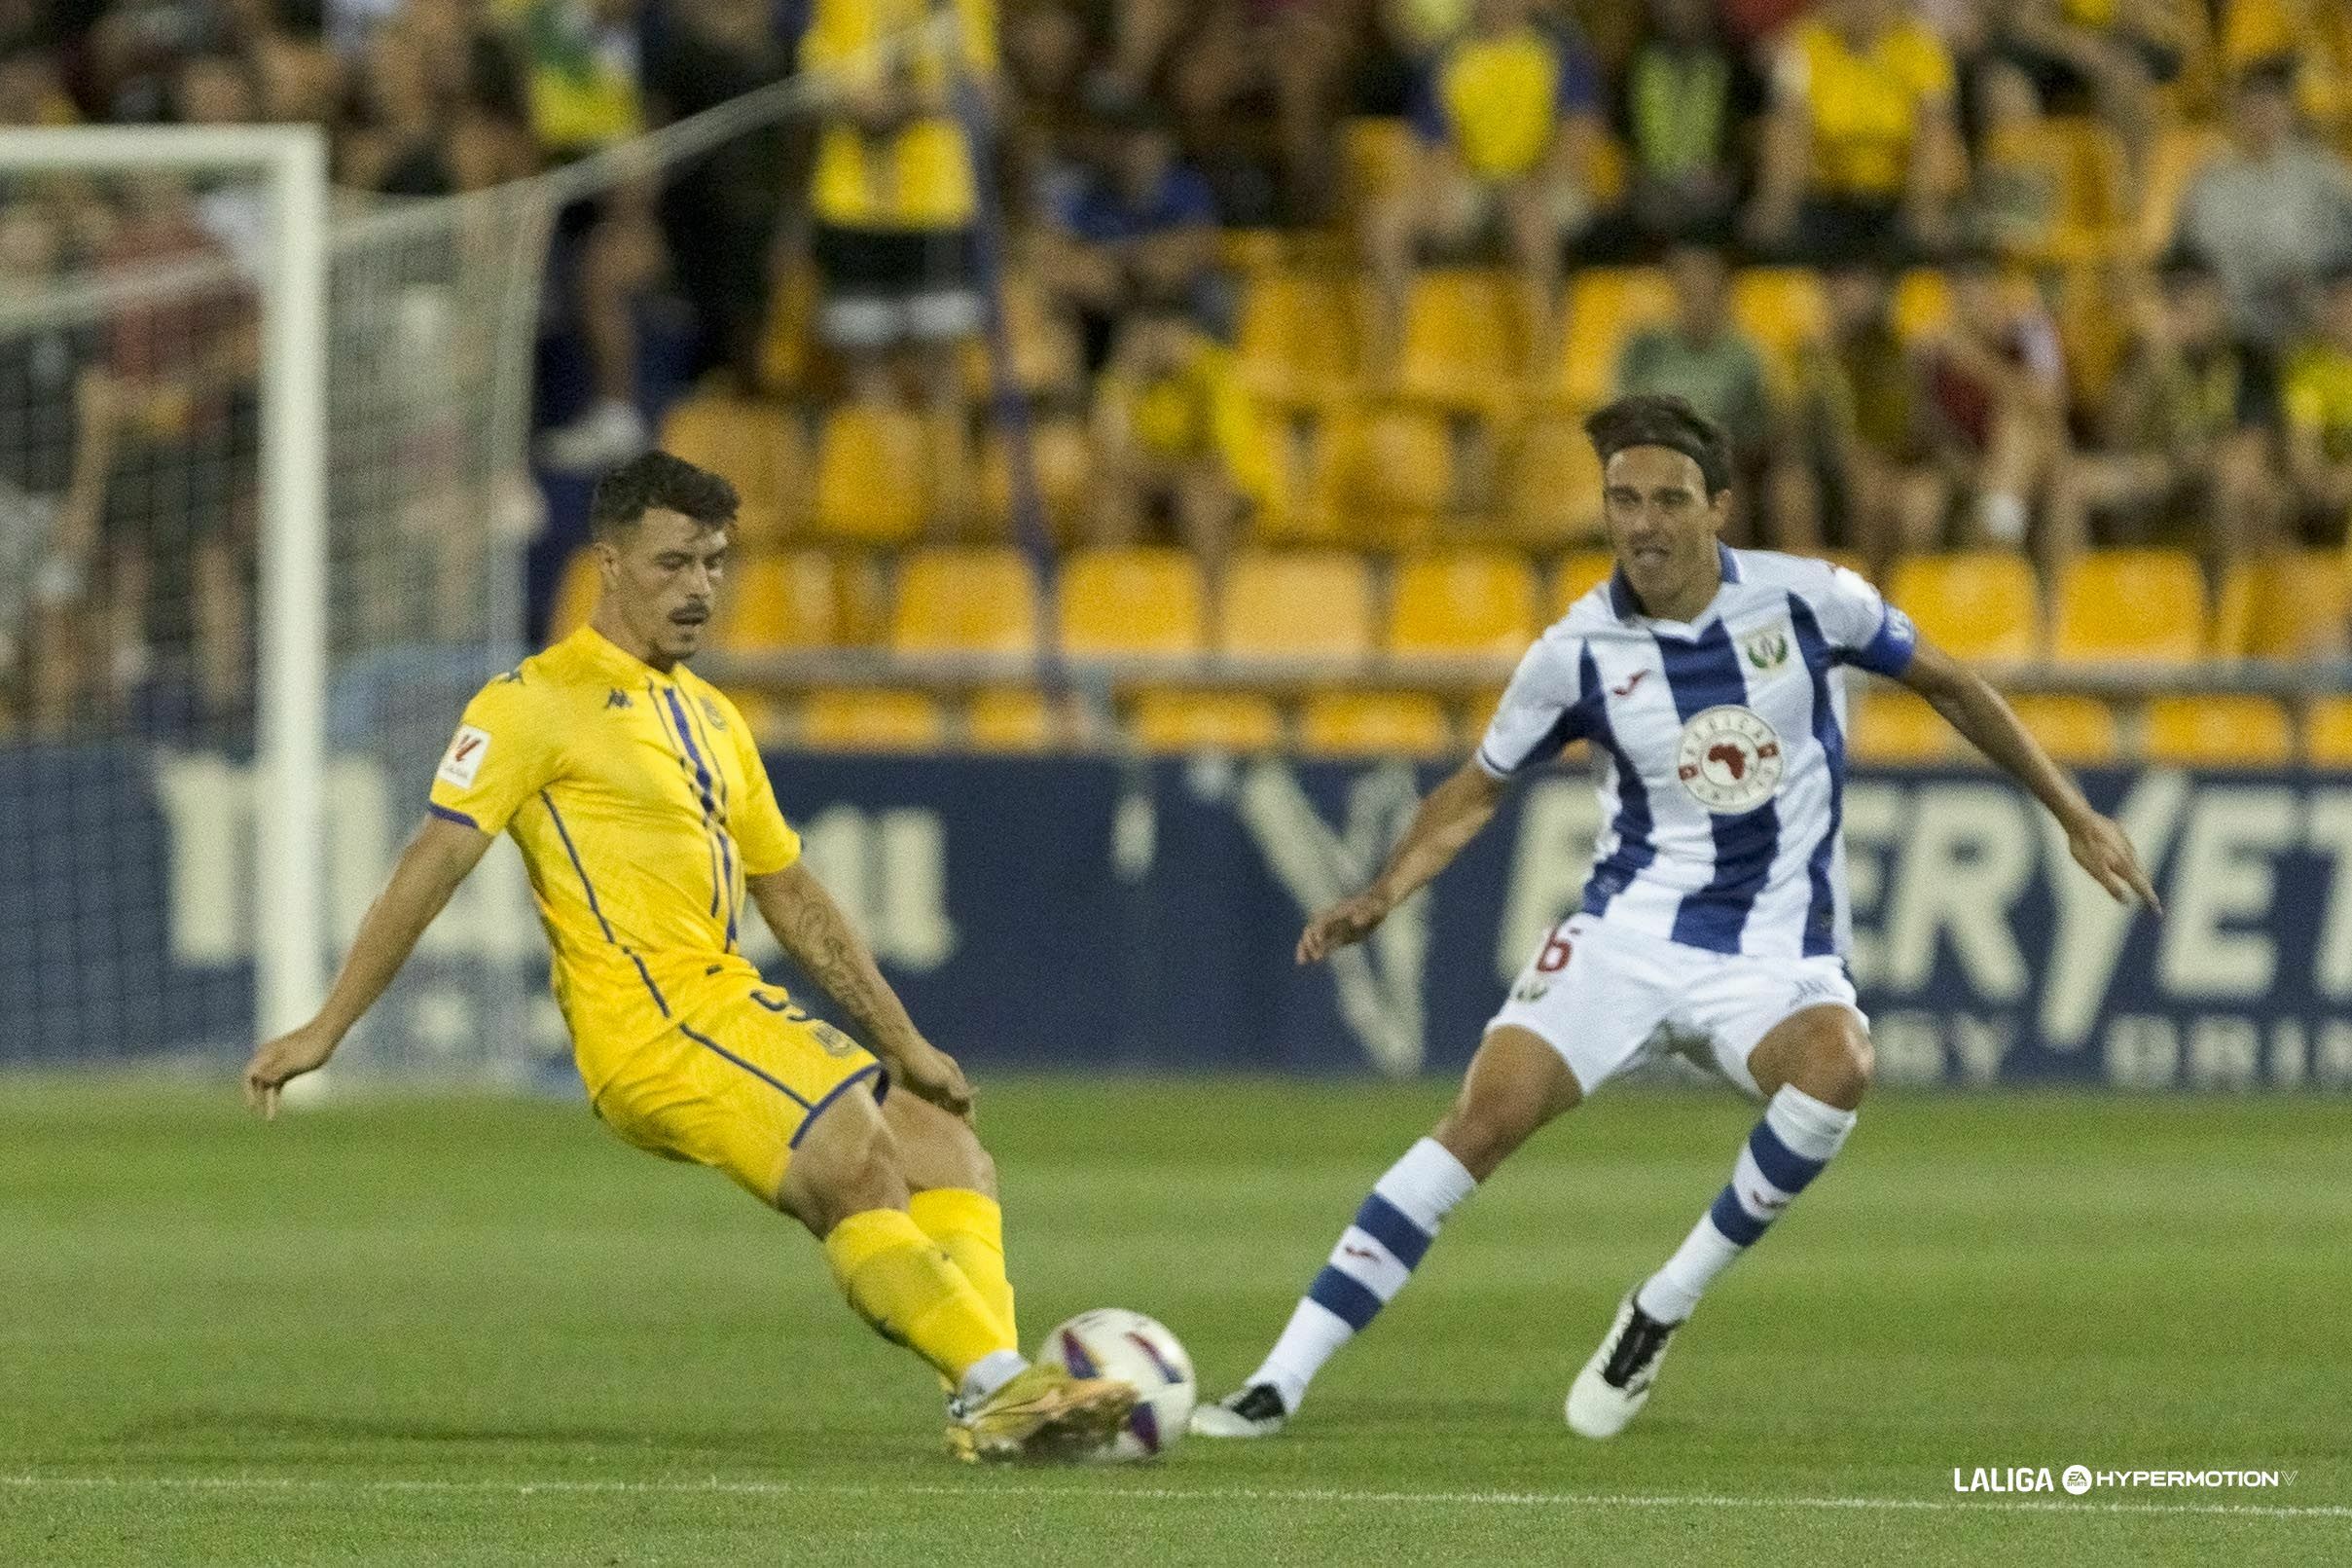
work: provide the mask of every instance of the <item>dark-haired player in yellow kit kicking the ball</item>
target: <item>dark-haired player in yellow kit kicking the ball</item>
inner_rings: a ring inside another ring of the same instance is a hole
[[[1030,1366],[1016,1349],[995,1168],[964,1074],[915,1030],[800,865],[741,715],[684,668],[734,515],[727,480],[661,451],[597,484],[595,616],[466,708],[430,816],[327,1004],[254,1053],[247,1100],[275,1114],[280,1088],[334,1053],[508,832],[595,1114],[642,1150],[724,1171],[816,1232],[856,1314],[948,1380],[953,1453],[1087,1453],[1124,1422],[1134,1389]],[[746,903],[873,1053],[760,978],[736,943]]]

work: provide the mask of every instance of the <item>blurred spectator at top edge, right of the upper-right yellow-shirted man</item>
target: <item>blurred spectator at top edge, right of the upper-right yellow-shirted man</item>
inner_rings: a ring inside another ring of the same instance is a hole
[[[2131,167],[2147,167],[2157,136],[2157,85],[2180,75],[2187,40],[2166,0],[2009,0],[1999,7],[1997,71],[2020,73],[2042,108],[2096,110],[2124,136]]]

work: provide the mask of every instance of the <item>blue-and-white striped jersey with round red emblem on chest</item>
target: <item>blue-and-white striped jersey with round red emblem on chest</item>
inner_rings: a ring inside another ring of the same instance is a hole
[[[1477,759],[1496,778],[1590,741],[1602,835],[1585,912],[1710,952],[1844,954],[1846,696],[1900,675],[1910,616],[1828,562],[1722,548],[1698,621],[1651,621],[1623,574],[1519,661]]]

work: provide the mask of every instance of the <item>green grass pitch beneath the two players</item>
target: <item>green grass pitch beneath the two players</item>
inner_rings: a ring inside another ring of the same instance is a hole
[[[983,1086],[1025,1333],[1138,1307],[1225,1392],[1444,1093]],[[1545,1133],[1277,1441],[967,1472],[804,1234],[579,1105],[0,1079],[0,1563],[2352,1563],[2340,1100],[1886,1095],[1573,1439],[1750,1114]],[[2293,1481],[1952,1488],[2067,1462]]]

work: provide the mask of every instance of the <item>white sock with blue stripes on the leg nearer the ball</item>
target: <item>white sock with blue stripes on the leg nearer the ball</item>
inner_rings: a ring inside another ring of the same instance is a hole
[[[1282,1408],[1298,1410],[1322,1363],[1404,1288],[1414,1265],[1437,1239],[1437,1227],[1472,1192],[1477,1178],[1435,1138],[1406,1150],[1371,1185],[1371,1197],[1355,1211],[1355,1225],[1341,1232],[1331,1262],[1308,1286],[1251,1382],[1275,1385]]]

